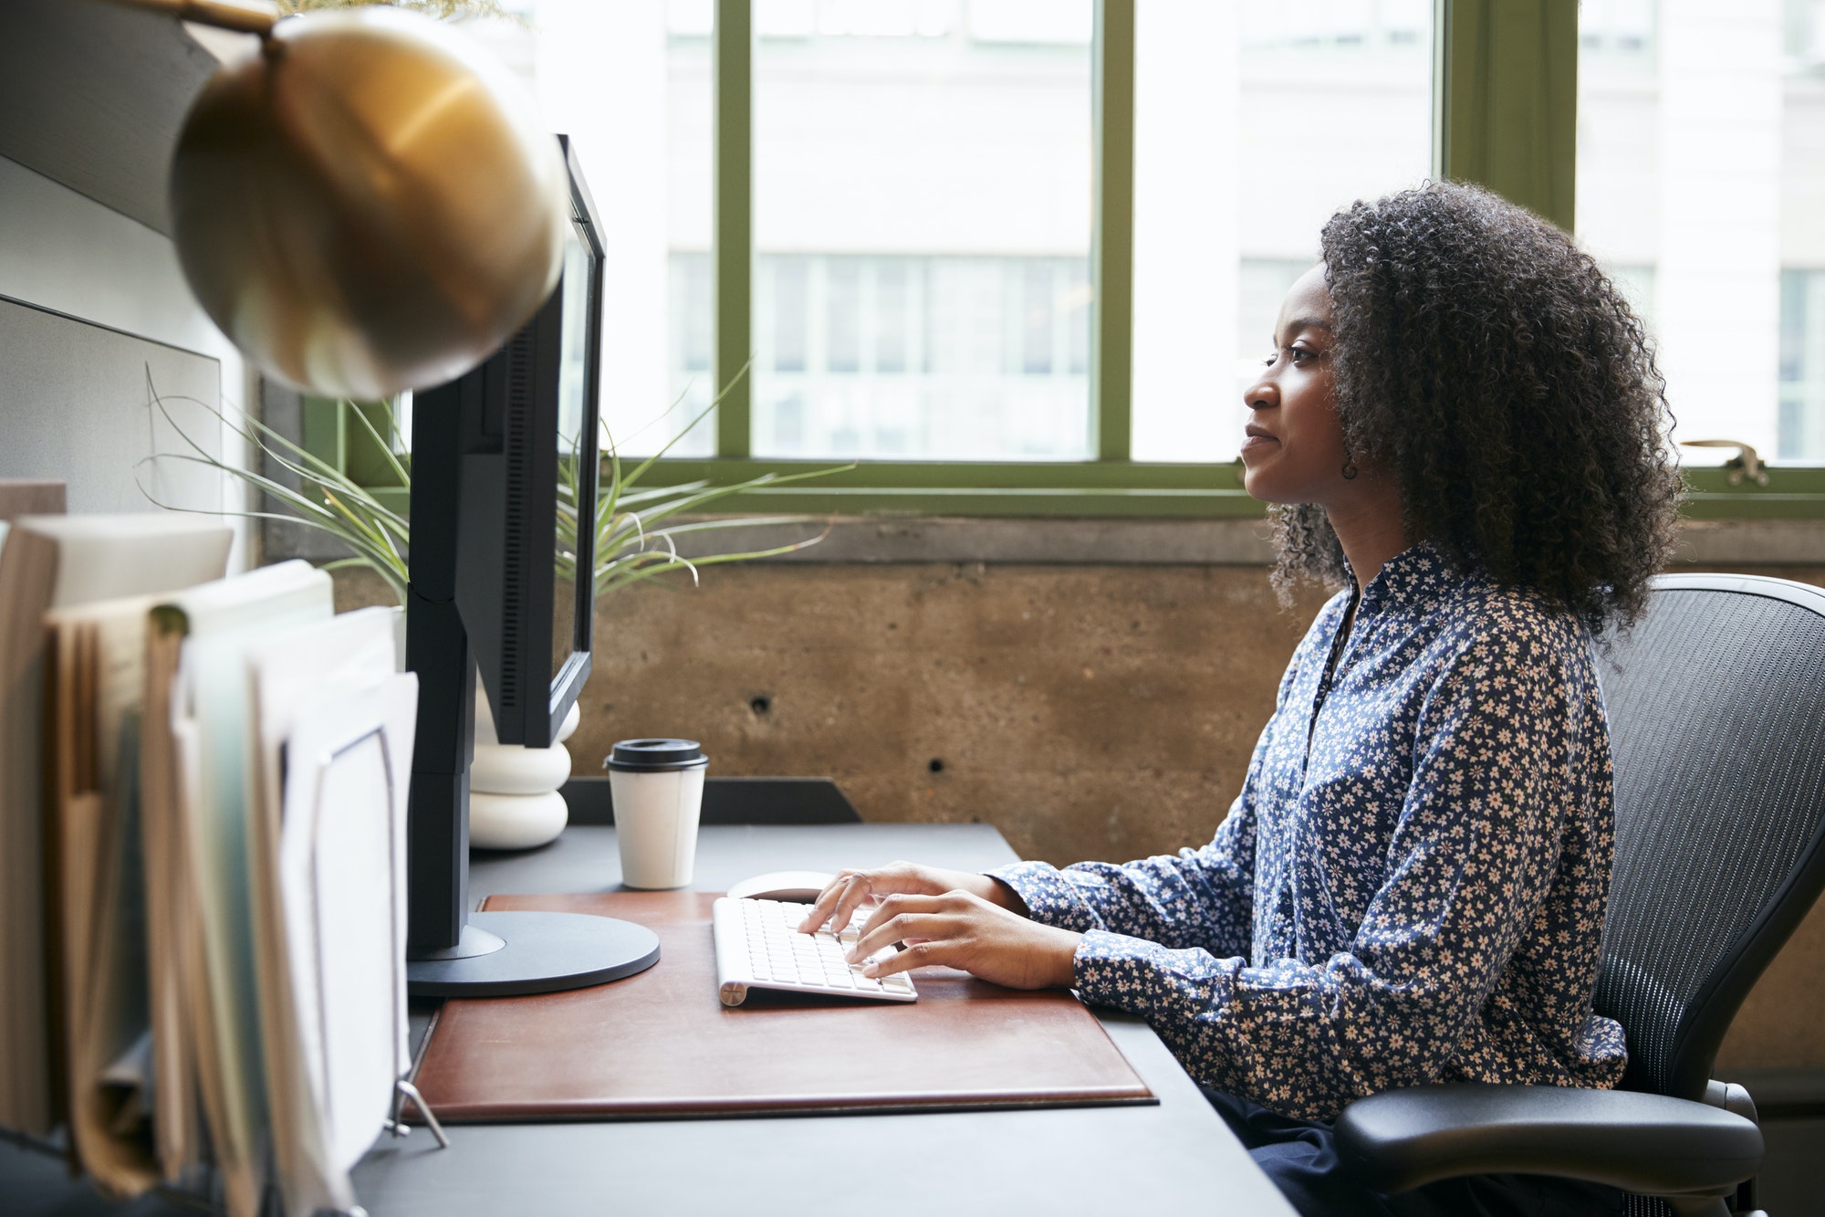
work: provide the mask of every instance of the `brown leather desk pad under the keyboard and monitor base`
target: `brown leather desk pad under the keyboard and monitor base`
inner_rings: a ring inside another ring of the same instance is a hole
[[[440,1120],[823,1115],[1152,1104],[1068,992],[1020,992],[951,968],[918,1001],[754,992],[717,1000],[706,892],[496,895],[489,910],[622,917],[659,963],[537,998],[445,1001],[418,1069]]]

